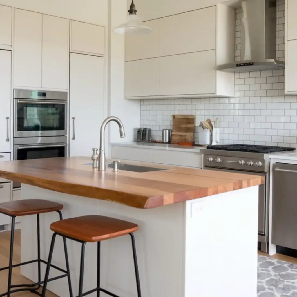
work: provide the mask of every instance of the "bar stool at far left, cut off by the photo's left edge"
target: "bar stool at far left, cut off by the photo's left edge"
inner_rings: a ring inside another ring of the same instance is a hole
[[[5,214],[7,216],[10,216],[11,219],[11,237],[10,237],[10,255],[9,255],[9,266],[0,268],[0,271],[8,269],[8,286],[7,286],[7,292],[0,295],[0,297],[7,296],[10,297],[12,293],[20,292],[20,291],[30,291],[31,293],[35,293],[39,296],[41,294],[37,292],[37,290],[40,288],[40,285],[43,284],[43,281],[41,281],[41,268],[40,264],[48,264],[46,261],[42,260],[40,258],[40,214],[48,213],[56,211],[59,216],[60,220],[63,219],[61,209],[63,208],[62,204],[48,201],[48,200],[41,200],[41,199],[27,199],[27,200],[19,200],[19,201],[10,201],[10,202],[4,202],[0,203],[0,213]],[[27,216],[27,215],[37,215],[37,259],[32,261],[27,261],[19,264],[12,265],[12,257],[13,257],[13,240],[14,240],[14,229],[15,229],[15,217],[21,217],[21,216]],[[68,254],[67,254],[67,246],[66,246],[66,238],[63,237],[63,243],[64,243],[64,252],[65,252],[65,260],[66,260],[66,267],[67,271],[64,269],[61,269],[57,266],[51,265],[53,268],[64,272],[63,275],[59,277],[55,277],[52,279],[49,279],[48,281],[56,280],[61,277],[68,277],[69,286],[71,287],[70,283],[70,274],[69,274],[69,262],[68,262]],[[22,284],[22,285],[12,285],[11,284],[11,277],[12,277],[12,268],[36,263],[38,264],[38,282],[34,284]],[[36,287],[37,286],[37,287]],[[20,288],[20,289],[14,289],[12,288],[18,288],[18,287],[27,287],[27,288]]]

